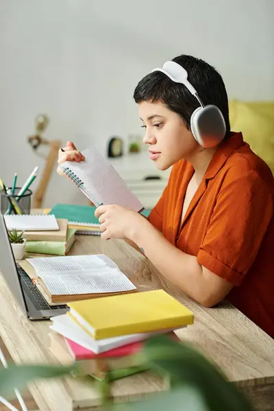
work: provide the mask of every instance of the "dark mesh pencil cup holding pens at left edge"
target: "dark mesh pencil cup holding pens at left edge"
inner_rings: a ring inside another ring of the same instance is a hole
[[[12,188],[8,187],[7,192],[11,192]],[[14,208],[12,208],[10,202],[11,199],[20,208],[21,214],[30,214],[31,203],[32,203],[32,190],[27,189],[25,193],[18,198],[18,192],[21,190],[20,187],[16,187],[14,194],[7,194],[5,191],[0,191],[0,210],[1,214],[14,214]]]

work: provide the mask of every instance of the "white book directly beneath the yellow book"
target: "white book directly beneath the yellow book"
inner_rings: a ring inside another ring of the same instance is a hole
[[[82,347],[86,349],[90,349],[96,354],[104,353],[105,351],[109,351],[110,349],[114,349],[117,347],[122,347],[123,345],[136,343],[137,341],[146,340],[147,338],[159,335],[159,334],[167,334],[173,329],[163,329],[157,332],[146,332],[141,334],[130,334],[127,336],[119,336],[119,337],[112,337],[112,338],[104,338],[103,340],[95,340],[90,336],[88,333],[79,327],[77,323],[70,316],[64,314],[59,316],[51,317],[51,325],[50,328],[53,331],[57,332],[58,334],[69,338],[69,340],[74,341]]]

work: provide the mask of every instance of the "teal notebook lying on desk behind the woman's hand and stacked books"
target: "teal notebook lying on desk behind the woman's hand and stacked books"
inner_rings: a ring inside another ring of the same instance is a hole
[[[95,217],[95,206],[77,206],[76,204],[56,204],[49,214],[55,215],[56,219],[67,219],[69,224],[76,225],[99,225]],[[148,216],[151,210],[143,210],[142,215]]]

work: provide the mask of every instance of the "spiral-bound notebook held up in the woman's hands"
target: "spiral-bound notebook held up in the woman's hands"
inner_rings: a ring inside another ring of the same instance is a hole
[[[95,147],[82,153],[86,158],[84,162],[67,161],[60,167],[95,206],[118,204],[135,211],[143,210],[142,203]]]

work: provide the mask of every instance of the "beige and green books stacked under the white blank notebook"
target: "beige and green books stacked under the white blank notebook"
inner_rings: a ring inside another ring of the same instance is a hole
[[[27,253],[66,256],[75,242],[76,229],[69,227],[67,219],[57,219],[58,231],[26,231]]]

